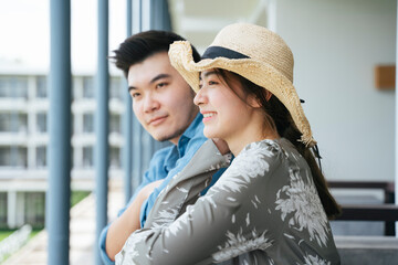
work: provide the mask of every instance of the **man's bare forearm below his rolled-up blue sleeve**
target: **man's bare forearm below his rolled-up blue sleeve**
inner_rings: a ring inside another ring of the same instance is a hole
[[[155,188],[159,187],[164,180],[157,180],[145,186],[137,194],[135,200],[128,205],[126,211],[118,216],[109,226],[106,234],[106,254],[112,261],[115,255],[122,251],[128,236],[140,229],[139,212],[146,199],[153,193]]]

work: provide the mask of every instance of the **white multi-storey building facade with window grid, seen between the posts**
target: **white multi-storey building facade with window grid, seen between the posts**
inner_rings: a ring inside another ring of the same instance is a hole
[[[72,190],[94,188],[95,85],[73,76]],[[109,78],[109,178],[123,174],[122,76]],[[0,227],[44,226],[49,94],[42,73],[0,73]]]

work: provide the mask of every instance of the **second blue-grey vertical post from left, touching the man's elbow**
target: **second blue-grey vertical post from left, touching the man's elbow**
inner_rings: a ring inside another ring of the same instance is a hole
[[[108,0],[98,0],[98,57],[96,73],[95,115],[95,176],[96,176],[96,241],[107,223],[108,193],[108,130],[109,130],[109,76],[108,76]],[[102,264],[100,250],[95,247],[95,264]]]

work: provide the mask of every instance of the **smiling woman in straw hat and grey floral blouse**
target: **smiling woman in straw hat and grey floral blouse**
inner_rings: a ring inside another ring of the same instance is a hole
[[[284,41],[238,23],[222,29],[198,63],[188,42],[174,43],[169,56],[197,91],[205,135],[223,139],[235,159],[192,205],[186,202],[198,191],[187,183],[200,178],[176,176],[151,225],[130,235],[117,263],[339,264],[327,221],[339,208],[311,152],[316,142]],[[188,167],[214,169],[222,158],[210,142]],[[184,203],[170,203],[178,192]]]

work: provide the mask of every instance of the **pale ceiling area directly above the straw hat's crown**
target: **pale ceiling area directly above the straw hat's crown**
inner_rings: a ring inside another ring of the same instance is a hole
[[[202,53],[217,32],[234,22],[266,26],[268,0],[169,0],[172,30]]]

